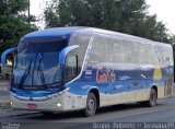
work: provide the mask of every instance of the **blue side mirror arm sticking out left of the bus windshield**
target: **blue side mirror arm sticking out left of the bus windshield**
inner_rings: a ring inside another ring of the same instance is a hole
[[[11,52],[14,52],[15,50],[18,50],[18,47],[13,47],[13,48],[10,48],[10,49],[7,49],[2,52],[2,56],[1,56],[1,63],[2,63],[2,67],[5,66],[5,62],[7,62],[7,56]]]

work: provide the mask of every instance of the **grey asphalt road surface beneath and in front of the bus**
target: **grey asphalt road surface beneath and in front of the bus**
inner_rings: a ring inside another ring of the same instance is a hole
[[[143,128],[143,122],[168,122],[172,128],[175,128],[175,97],[160,99],[155,107],[143,107],[139,104],[105,107],[98,109],[93,117],[83,117],[81,112],[51,116],[34,113],[0,117],[0,122],[2,129],[7,127],[15,127],[15,129],[108,129],[116,128],[119,122],[133,122],[138,129]]]

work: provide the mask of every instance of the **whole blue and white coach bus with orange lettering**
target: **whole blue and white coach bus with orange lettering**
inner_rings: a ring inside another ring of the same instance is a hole
[[[156,105],[173,94],[168,44],[93,27],[57,27],[30,33],[15,52],[10,85],[14,109],[84,110],[141,103]]]

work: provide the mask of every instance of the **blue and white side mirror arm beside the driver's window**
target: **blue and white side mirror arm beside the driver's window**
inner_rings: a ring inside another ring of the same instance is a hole
[[[63,48],[59,54],[59,61],[58,61],[59,64],[65,66],[66,58],[67,58],[67,55],[69,54],[69,51],[71,51],[78,47],[79,47],[79,45],[72,45],[72,46],[68,46],[68,47]]]

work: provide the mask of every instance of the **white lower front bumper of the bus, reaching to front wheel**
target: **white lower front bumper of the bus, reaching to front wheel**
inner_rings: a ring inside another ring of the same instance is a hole
[[[69,93],[68,90],[45,97],[23,97],[14,93],[10,94],[12,108],[22,110],[67,112],[85,108],[86,96]],[[36,105],[37,108],[28,108]]]

